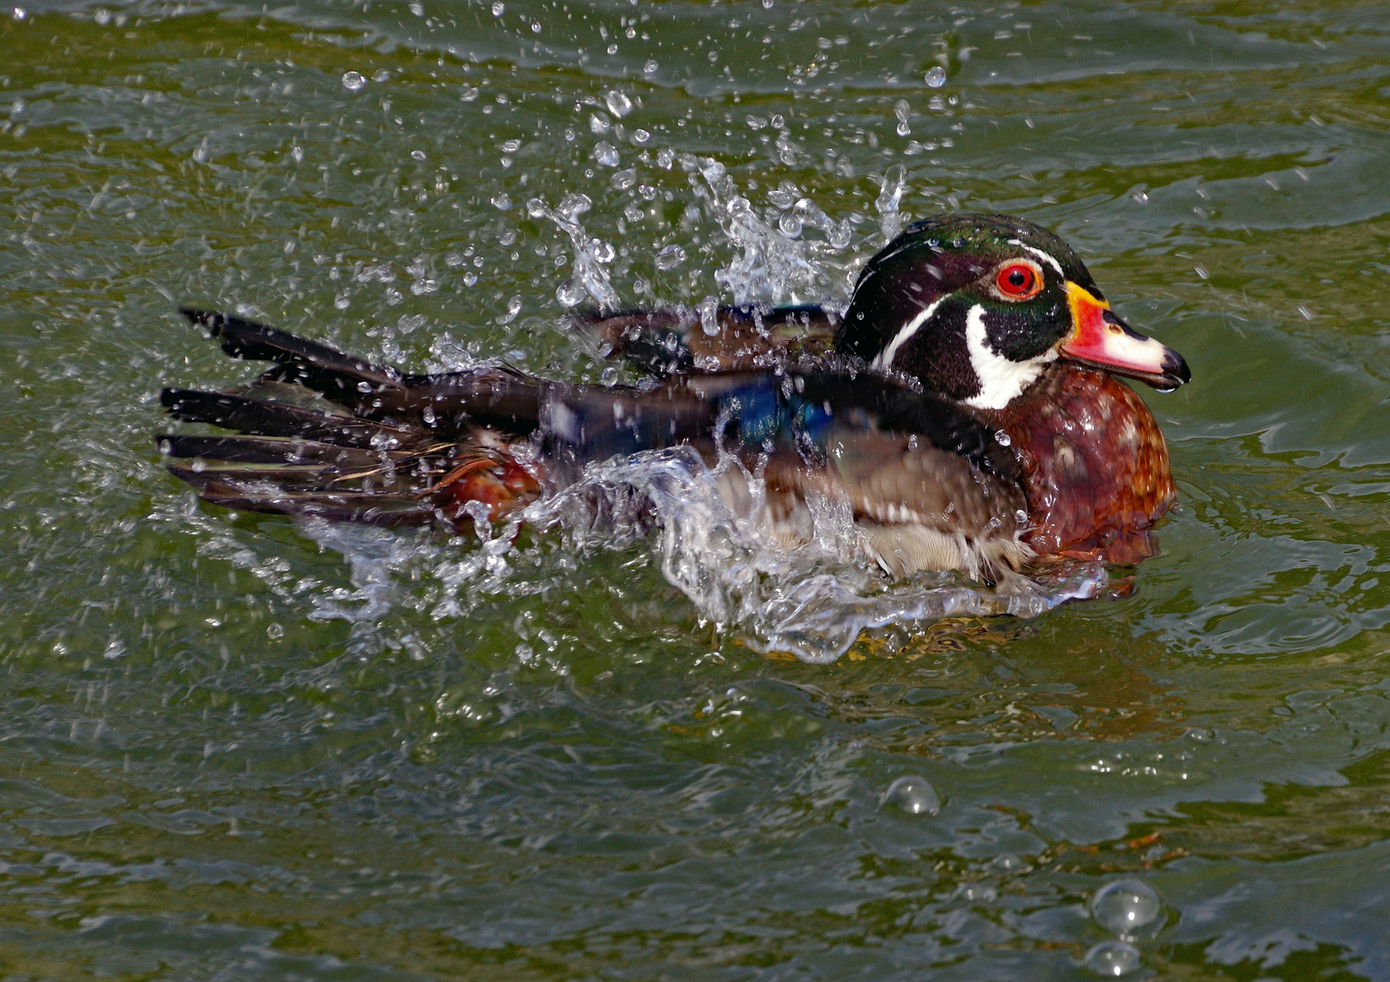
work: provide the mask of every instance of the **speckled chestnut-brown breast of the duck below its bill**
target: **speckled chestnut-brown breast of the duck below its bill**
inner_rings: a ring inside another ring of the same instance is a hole
[[[1131,565],[1156,552],[1151,529],[1177,491],[1158,421],[1129,385],[1054,363],[984,416],[1017,451],[1040,555]]]

